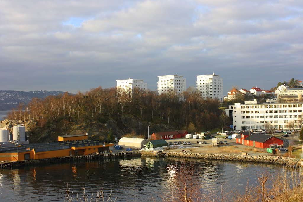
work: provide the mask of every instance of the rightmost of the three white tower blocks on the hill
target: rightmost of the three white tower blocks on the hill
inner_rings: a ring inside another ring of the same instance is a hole
[[[218,98],[220,102],[223,101],[223,83],[219,75],[200,75],[197,76],[197,90],[203,99]]]

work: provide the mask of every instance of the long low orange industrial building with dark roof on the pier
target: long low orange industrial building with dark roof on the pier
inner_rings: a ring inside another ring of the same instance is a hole
[[[77,137],[83,137],[83,135]],[[23,161],[70,155],[96,154],[97,152],[109,151],[111,146],[114,146],[114,144],[85,139],[0,147],[0,161]]]

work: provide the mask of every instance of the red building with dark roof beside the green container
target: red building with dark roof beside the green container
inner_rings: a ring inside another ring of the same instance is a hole
[[[271,135],[244,132],[236,137],[236,143],[264,149],[270,144],[283,144],[283,140]]]

